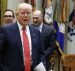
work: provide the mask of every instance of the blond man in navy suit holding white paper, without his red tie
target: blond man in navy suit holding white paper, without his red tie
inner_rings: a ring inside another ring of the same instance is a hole
[[[46,71],[43,65],[43,47],[40,32],[29,25],[32,6],[21,3],[16,9],[17,22],[0,28],[0,71],[27,71],[24,63],[23,27],[29,41],[31,70]],[[26,40],[25,40],[26,42]],[[42,65],[42,68],[39,67]]]

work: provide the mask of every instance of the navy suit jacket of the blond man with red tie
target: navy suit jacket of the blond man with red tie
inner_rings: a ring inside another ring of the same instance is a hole
[[[32,65],[39,64],[43,55],[40,33],[29,26],[32,42]],[[22,43],[17,23],[0,28],[0,71],[24,71]]]

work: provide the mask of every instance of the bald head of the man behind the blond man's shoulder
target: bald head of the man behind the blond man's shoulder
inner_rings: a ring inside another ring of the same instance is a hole
[[[34,25],[40,25],[43,21],[43,15],[40,10],[36,10],[33,12],[33,24]]]

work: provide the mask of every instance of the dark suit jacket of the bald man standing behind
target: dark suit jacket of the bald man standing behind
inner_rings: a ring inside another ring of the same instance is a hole
[[[48,48],[50,49],[50,51],[54,50],[55,49],[55,33],[54,33],[53,26],[43,24],[41,35],[42,35],[42,39],[44,43],[44,50],[47,51]],[[50,51],[49,51],[49,54],[52,53]]]

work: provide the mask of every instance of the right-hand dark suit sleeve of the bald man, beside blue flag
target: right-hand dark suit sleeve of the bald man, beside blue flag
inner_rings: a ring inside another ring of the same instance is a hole
[[[48,38],[49,38],[49,47],[45,51],[45,56],[54,54],[54,50],[55,50],[55,33],[54,33],[53,28],[51,29],[51,32],[49,33]]]

